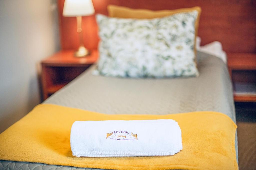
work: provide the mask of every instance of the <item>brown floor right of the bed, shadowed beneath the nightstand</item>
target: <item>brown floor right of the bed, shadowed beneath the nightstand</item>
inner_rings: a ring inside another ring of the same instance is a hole
[[[256,169],[256,103],[236,102],[239,170]]]

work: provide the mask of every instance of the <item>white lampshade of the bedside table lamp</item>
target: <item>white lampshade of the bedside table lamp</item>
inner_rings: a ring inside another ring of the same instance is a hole
[[[65,17],[88,16],[94,12],[92,0],[65,0],[62,15]]]

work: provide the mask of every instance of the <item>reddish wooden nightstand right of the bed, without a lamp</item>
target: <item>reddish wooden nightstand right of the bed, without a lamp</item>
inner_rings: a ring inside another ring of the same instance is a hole
[[[256,102],[256,54],[228,53],[228,69],[233,82],[234,100]]]

